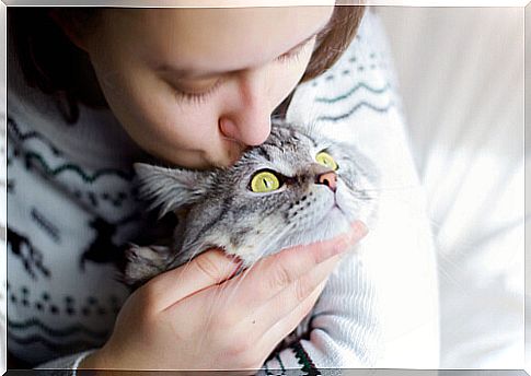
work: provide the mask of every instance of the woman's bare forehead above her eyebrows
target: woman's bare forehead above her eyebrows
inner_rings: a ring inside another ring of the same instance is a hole
[[[153,64],[193,77],[270,61],[323,28],[332,11],[333,7],[124,10],[116,25],[118,33],[138,38]]]

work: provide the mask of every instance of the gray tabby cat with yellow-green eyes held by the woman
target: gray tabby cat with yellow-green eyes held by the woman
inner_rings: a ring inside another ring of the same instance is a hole
[[[180,215],[169,246],[132,246],[125,281],[139,284],[220,247],[242,268],[295,245],[332,238],[374,210],[377,174],[350,144],[274,122],[269,138],[229,168],[135,165],[140,192]],[[370,192],[370,195],[369,195]]]

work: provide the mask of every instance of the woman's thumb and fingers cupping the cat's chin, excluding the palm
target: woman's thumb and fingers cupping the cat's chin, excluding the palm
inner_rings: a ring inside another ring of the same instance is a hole
[[[209,250],[186,266],[154,278],[140,290],[148,295],[154,312],[174,307],[176,312],[166,312],[172,316],[182,309],[203,309],[208,317],[216,317],[215,321],[220,320],[229,327],[249,318],[257,308],[275,303],[277,312],[263,313],[270,326],[289,315],[293,304],[300,304],[315,290],[332,271],[333,259],[338,258],[336,255],[366,234],[365,224],[356,222],[347,234],[332,240],[286,249],[258,261],[251,270],[230,281],[227,280],[238,269],[238,262],[220,250]],[[208,289],[223,281],[219,287]],[[280,292],[282,294],[276,301],[269,302]],[[186,298],[191,295],[197,298]],[[178,302],[181,304],[175,305]]]

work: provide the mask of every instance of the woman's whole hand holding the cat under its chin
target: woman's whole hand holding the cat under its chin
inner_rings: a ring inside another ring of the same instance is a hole
[[[257,369],[366,232],[356,222],[348,234],[282,250],[232,279],[238,265],[206,251],[131,294],[111,339],[80,368]]]

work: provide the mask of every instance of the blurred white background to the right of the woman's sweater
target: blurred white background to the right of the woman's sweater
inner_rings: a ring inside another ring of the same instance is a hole
[[[374,10],[438,250],[440,366],[521,369],[524,8]]]

